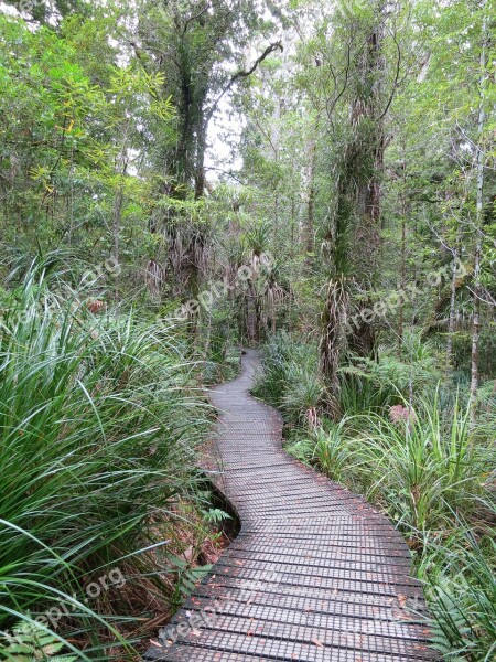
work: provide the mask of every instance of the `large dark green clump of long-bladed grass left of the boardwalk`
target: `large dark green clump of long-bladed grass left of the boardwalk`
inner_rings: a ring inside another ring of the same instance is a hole
[[[166,595],[150,547],[174,535],[194,494],[206,413],[172,328],[132,312],[95,317],[51,293],[36,268],[3,306],[0,629],[64,600],[71,616],[42,630],[77,659],[108,660],[129,629],[129,591],[145,583]],[[126,589],[86,604],[88,581],[115,567]]]

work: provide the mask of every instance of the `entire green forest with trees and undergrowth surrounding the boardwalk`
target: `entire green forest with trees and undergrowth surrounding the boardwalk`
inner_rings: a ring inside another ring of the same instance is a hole
[[[0,660],[141,660],[209,573],[241,348],[495,660],[495,0],[0,2]]]

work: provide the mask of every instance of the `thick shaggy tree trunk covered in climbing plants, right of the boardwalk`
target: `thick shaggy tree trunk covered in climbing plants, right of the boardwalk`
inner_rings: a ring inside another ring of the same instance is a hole
[[[326,104],[334,152],[334,214],[327,229],[331,282],[323,313],[321,365],[332,389],[337,387],[339,354],[346,342],[355,353],[374,348],[370,308],[380,256],[381,177],[386,149],[385,118],[398,85],[400,49],[388,62],[385,46],[390,8],[374,1],[339,13],[333,35],[339,45],[324,49],[323,71],[332,86]],[[389,88],[387,87],[389,83]],[[338,119],[337,119],[338,118]],[[338,122],[338,124],[337,124]],[[337,125],[337,126],[336,126]],[[346,293],[345,293],[346,290]]]

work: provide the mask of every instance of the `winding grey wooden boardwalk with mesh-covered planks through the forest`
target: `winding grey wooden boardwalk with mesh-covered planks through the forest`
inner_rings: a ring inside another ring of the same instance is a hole
[[[284,453],[279,415],[248,393],[256,366],[248,351],[241,376],[212,393],[223,412],[217,484],[241,532],[145,659],[434,660],[411,616],[421,590],[401,536]]]

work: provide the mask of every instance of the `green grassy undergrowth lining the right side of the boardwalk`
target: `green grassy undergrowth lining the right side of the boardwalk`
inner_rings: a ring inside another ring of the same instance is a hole
[[[290,366],[309,351],[302,345],[281,334],[266,351],[260,395],[285,414],[298,373]],[[496,388],[481,389],[471,429],[467,399],[438,386],[438,376],[434,349],[413,335],[399,357],[386,348],[377,361],[355,359],[341,371],[342,420],[323,416],[321,427],[300,428],[289,450],[366,494],[405,534],[443,658],[488,662],[496,654]],[[399,403],[403,417],[390,409]]]

